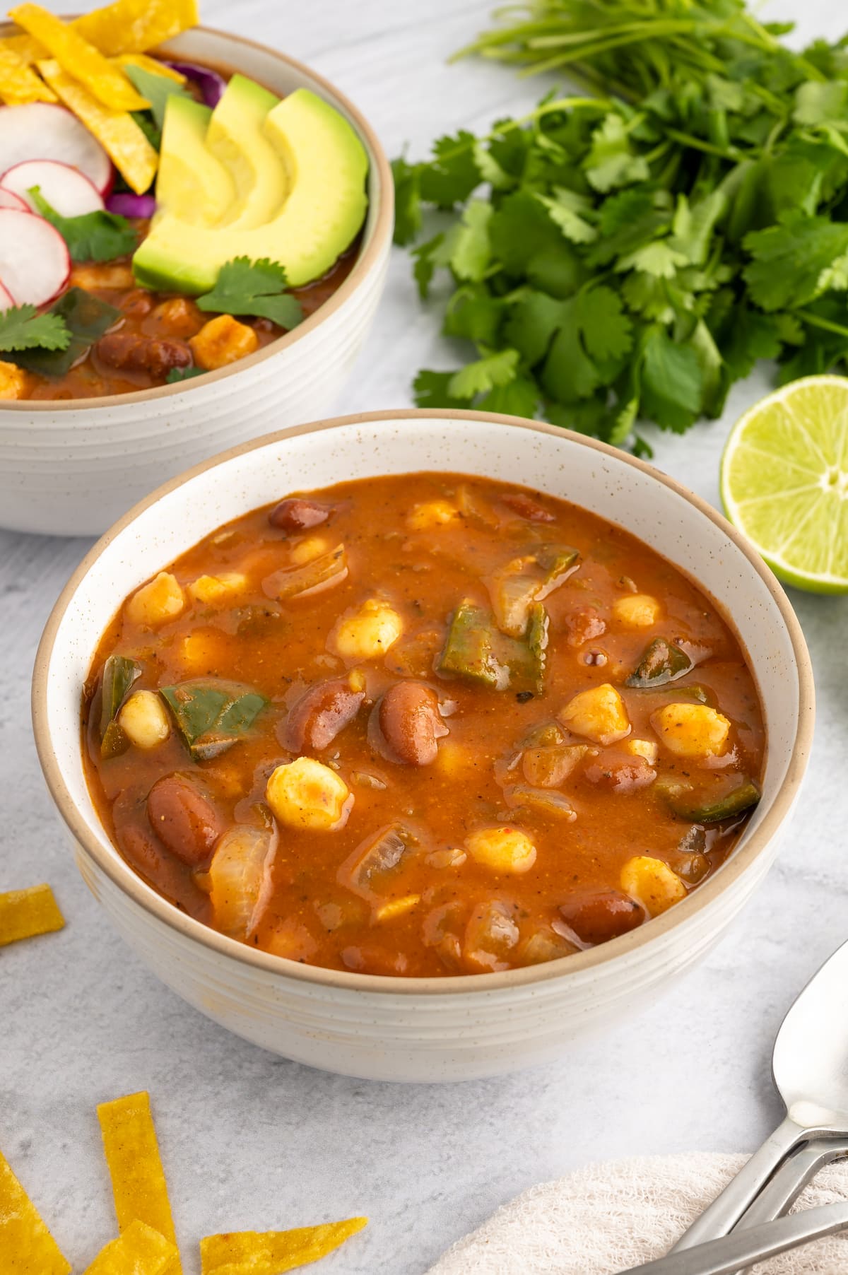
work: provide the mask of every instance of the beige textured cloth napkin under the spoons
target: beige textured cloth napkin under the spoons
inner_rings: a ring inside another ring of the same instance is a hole
[[[592,1164],[502,1205],[428,1275],[613,1275],[668,1252],[743,1155]],[[848,1200],[848,1163],[828,1165],[796,1209]],[[794,1211],[794,1210],[793,1210]],[[848,1275],[848,1232],[761,1262],[756,1275]]]

